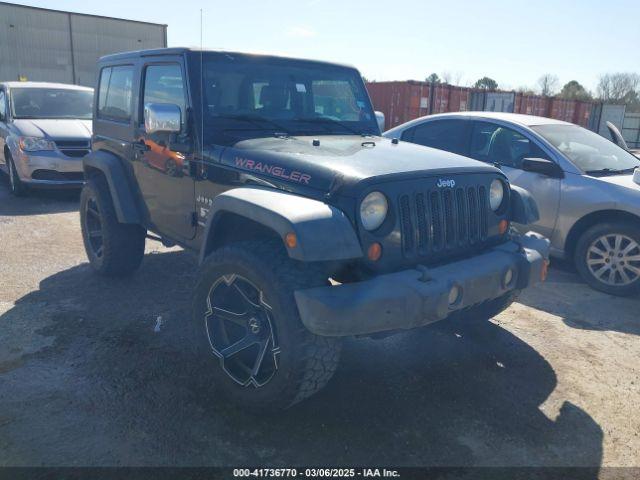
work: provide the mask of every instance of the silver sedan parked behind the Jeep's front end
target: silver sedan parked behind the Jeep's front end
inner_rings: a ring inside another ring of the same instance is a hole
[[[384,136],[498,165],[531,192],[552,255],[593,288],[640,292],[640,160],[571,123],[493,112],[432,115]]]

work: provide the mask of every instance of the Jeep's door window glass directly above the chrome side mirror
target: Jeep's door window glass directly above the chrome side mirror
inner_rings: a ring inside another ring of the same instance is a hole
[[[185,121],[186,96],[182,69],[178,64],[149,65],[144,74],[142,104],[170,103],[180,107],[182,122]]]

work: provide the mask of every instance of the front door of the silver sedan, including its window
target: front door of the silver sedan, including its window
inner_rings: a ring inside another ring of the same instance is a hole
[[[561,179],[522,169],[525,158],[552,160],[535,139],[503,124],[474,121],[469,156],[499,165],[513,185],[528,190],[540,211],[540,220],[531,228],[552,238],[560,205]]]

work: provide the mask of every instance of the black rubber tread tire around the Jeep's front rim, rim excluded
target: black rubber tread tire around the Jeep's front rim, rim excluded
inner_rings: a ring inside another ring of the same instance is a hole
[[[213,302],[208,303],[212,286],[219,285],[222,278],[228,281],[231,275],[251,282],[271,308],[279,349],[273,354],[277,369],[261,386],[245,386],[234,380],[223,369],[223,359],[214,353],[215,339],[210,342],[207,335],[207,322],[219,321],[207,316],[212,311]],[[250,411],[283,410],[323,388],[338,366],[342,342],[314,335],[303,326],[294,291],[327,284],[321,271],[290,259],[279,240],[240,242],[213,252],[201,268],[192,325],[198,350],[207,358],[203,373],[214,388],[234,405]]]

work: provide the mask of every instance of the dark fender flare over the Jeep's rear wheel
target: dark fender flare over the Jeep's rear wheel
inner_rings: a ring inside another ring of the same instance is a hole
[[[96,169],[107,179],[113,207],[120,223],[142,224],[136,196],[129,184],[127,172],[117,156],[104,151],[93,151],[83,158],[82,167],[85,174],[91,169]]]

